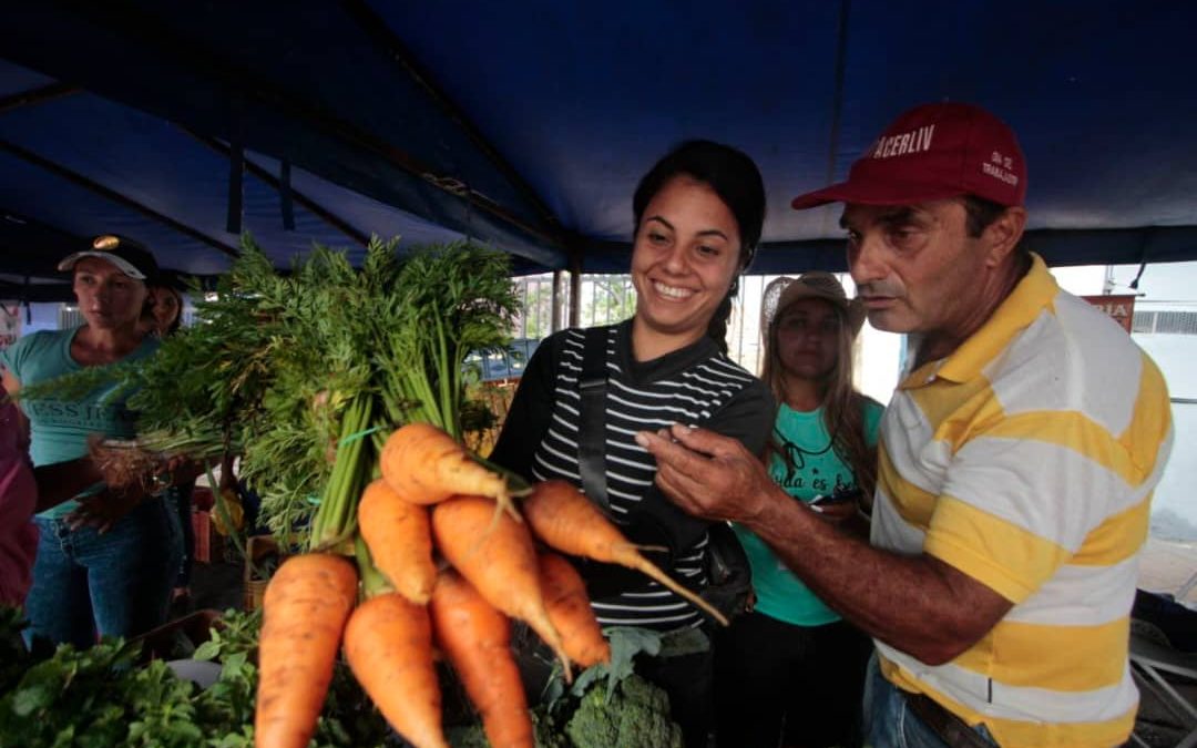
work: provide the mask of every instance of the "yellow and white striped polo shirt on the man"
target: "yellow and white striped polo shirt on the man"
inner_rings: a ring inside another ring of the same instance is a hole
[[[1043,260],[881,424],[873,545],[925,552],[1014,603],[952,662],[877,643],[885,675],[999,744],[1116,746],[1138,551],[1172,444],[1168,393],[1129,335]]]

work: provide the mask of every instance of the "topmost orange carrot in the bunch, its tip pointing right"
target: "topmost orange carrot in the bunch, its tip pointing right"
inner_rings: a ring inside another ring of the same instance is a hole
[[[517,516],[506,480],[431,424],[407,424],[390,434],[378,464],[395,493],[412,504],[438,504],[458,493],[485,495]]]

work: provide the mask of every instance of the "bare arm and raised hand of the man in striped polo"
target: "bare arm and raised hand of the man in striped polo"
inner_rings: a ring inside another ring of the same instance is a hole
[[[1013,603],[929,555],[873,548],[794,501],[739,442],[674,426],[637,440],[657,484],[686,511],[740,523],[828,606],[873,637],[935,665],[984,637]]]

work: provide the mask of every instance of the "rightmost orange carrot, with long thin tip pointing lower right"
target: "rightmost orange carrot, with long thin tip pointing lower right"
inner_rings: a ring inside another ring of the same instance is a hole
[[[716,621],[728,625],[728,619],[710,603],[644,558],[619,528],[571,484],[563,480],[537,484],[523,501],[523,515],[533,533],[549,547],[570,555],[634,568],[688,600]]]

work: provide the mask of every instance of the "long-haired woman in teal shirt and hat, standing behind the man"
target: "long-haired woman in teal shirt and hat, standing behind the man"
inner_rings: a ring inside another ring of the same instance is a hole
[[[846,531],[867,527],[861,511],[876,481],[882,411],[852,388],[852,342],[863,322],[863,306],[833,275],[804,273],[768,316],[761,373],[779,403],[766,457],[773,479]],[[755,603],[716,647],[718,744],[859,746],[873,643],[764,541],[735,529],[752,564]]]

